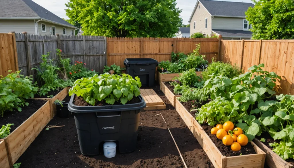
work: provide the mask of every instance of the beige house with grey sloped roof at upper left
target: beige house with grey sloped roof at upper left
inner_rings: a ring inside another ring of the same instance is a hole
[[[73,35],[75,26],[31,0],[0,0],[0,33]]]

